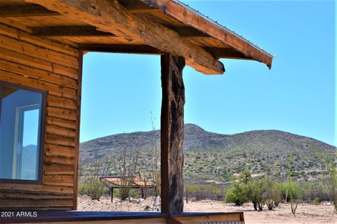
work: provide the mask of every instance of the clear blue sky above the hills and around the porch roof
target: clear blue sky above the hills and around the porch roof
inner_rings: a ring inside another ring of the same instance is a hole
[[[223,76],[184,70],[185,123],[235,134],[282,130],[337,145],[334,1],[184,1],[276,55],[221,59]],[[84,56],[81,142],[160,124],[160,57]]]

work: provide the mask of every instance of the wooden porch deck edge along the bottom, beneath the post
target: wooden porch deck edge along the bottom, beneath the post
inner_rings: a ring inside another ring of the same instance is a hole
[[[0,223],[55,224],[244,224],[243,212],[183,213],[117,211],[13,211],[13,216],[0,218]],[[28,216],[32,214],[33,216]]]

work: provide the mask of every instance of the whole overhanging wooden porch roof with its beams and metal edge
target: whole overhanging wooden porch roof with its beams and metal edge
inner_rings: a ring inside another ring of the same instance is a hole
[[[0,22],[84,51],[185,57],[205,74],[218,59],[250,59],[269,68],[273,56],[177,0],[0,0]]]

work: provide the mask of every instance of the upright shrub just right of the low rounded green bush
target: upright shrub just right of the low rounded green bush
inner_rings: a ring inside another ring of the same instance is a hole
[[[256,211],[263,210],[265,191],[265,181],[263,179],[250,181],[247,185],[246,197],[253,203],[253,207]]]

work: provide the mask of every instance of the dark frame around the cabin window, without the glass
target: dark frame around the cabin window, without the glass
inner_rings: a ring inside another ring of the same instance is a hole
[[[20,90],[28,90],[32,92],[40,93],[42,96],[41,100],[41,117],[40,117],[40,130],[39,130],[39,170],[37,171],[37,180],[24,180],[24,179],[1,179],[0,183],[18,183],[18,184],[42,184],[42,176],[43,176],[43,165],[44,165],[44,151],[45,151],[45,136],[46,136],[46,98],[47,98],[47,91],[40,90],[33,87],[27,87],[25,85],[20,85],[16,83],[8,83],[0,80],[0,125],[1,125],[1,104],[2,104],[2,95],[1,90],[4,86],[14,87]]]

